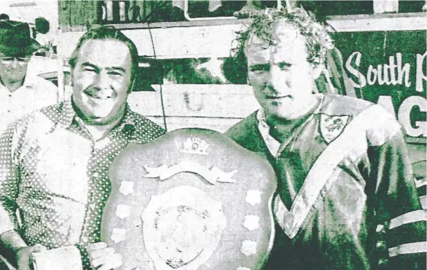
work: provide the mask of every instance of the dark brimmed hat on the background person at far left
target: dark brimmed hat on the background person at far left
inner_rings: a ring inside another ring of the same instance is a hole
[[[30,26],[20,21],[0,20],[0,53],[8,56],[32,55],[40,44],[31,38]]]

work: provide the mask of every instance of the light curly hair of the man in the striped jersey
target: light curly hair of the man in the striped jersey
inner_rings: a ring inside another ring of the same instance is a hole
[[[294,26],[298,32],[305,37],[305,46],[307,48],[307,61],[311,64],[319,65],[325,61],[325,55],[328,50],[334,48],[334,43],[328,31],[332,27],[319,23],[314,16],[303,8],[266,8],[255,12],[236,12],[234,15],[238,19],[249,18],[252,22],[247,29],[238,34],[237,47],[231,50],[236,57],[243,57],[247,41],[254,36],[265,41],[268,46],[274,46],[277,39],[273,32],[274,23],[277,21],[287,21]]]

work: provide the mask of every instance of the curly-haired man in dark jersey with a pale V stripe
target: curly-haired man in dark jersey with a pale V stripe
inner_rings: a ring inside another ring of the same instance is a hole
[[[261,108],[227,135],[276,171],[265,269],[425,266],[426,213],[399,123],[376,104],[314,93],[334,44],[305,10],[250,17],[237,50]]]

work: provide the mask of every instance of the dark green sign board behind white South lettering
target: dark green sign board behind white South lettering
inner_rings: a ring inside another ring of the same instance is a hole
[[[384,75],[384,66],[390,65],[390,57],[395,58],[397,64],[397,54],[401,54],[401,68],[405,64],[409,64],[409,79],[410,86],[405,85],[405,79],[402,84],[379,84],[378,75],[377,81],[362,88],[356,88],[357,97],[369,100],[370,102],[377,103],[379,96],[390,96],[392,105],[395,108],[395,113],[398,114],[399,107],[405,99],[411,96],[420,96],[426,98],[427,84],[422,80],[421,88],[416,90],[417,82],[417,55],[424,55],[426,53],[426,31],[388,31],[388,32],[339,32],[334,36],[336,47],[339,48],[343,55],[345,70],[348,72],[348,64],[357,70],[365,77],[367,77],[368,68],[378,70],[378,65],[381,65],[382,75]],[[359,66],[355,63],[353,57],[351,63],[346,63],[350,55],[354,52],[361,53],[361,61]],[[346,65],[347,64],[347,65]],[[427,74],[427,60],[421,61],[418,68],[422,68],[422,75]],[[399,67],[395,68],[395,77],[399,77]],[[354,72],[353,72],[354,73]],[[348,72],[352,81],[360,84],[361,81],[357,76]],[[390,71],[387,72],[390,78]],[[371,75],[373,76],[373,75]],[[383,77],[383,76],[382,76]],[[419,76],[420,77],[420,76]],[[419,78],[420,79],[420,78]],[[368,78],[366,78],[368,80]],[[425,104],[425,101],[424,101]],[[411,126],[415,127],[415,122],[426,122],[426,113],[421,112],[419,106],[412,107],[410,112]]]

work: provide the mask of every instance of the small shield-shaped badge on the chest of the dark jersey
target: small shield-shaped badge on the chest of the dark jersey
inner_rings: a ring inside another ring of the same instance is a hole
[[[321,114],[320,133],[327,144],[343,133],[348,124],[348,115],[325,115]]]

